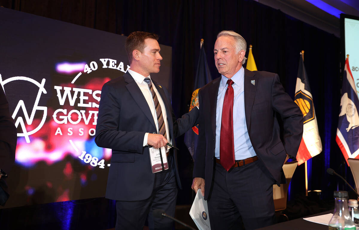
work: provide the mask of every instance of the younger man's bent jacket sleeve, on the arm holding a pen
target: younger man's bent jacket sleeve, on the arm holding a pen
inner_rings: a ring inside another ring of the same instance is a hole
[[[106,83],[102,87],[95,143],[102,148],[142,153],[145,132],[120,130],[119,128],[121,110],[129,109],[120,105],[120,100],[118,100],[121,96],[120,91],[110,83]]]

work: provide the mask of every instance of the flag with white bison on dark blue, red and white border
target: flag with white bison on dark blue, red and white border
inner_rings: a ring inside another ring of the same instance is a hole
[[[348,158],[359,158],[359,116],[358,110],[356,109],[358,106],[358,94],[349,67],[349,55],[347,55],[343,74],[340,113],[336,135],[336,142],[347,163]]]

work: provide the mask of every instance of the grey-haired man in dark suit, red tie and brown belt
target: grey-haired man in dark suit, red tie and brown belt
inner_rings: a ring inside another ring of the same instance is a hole
[[[214,60],[222,75],[199,91],[199,139],[192,189],[208,201],[211,229],[257,229],[274,222],[273,184],[295,157],[303,115],[275,73],[242,67],[247,43],[222,31]],[[280,125],[283,121],[283,140]]]

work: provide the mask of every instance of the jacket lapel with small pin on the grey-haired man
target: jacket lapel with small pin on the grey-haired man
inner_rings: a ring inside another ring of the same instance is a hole
[[[254,85],[252,81],[254,80]],[[254,96],[256,95],[258,85],[258,77],[255,72],[249,71],[244,68],[244,110],[246,113],[247,129],[251,128],[251,113],[254,102]]]

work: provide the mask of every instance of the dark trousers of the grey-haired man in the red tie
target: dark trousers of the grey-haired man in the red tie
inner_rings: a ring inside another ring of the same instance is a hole
[[[274,224],[273,183],[260,160],[228,172],[216,163],[208,199],[211,229],[243,229],[244,225],[250,230]]]

